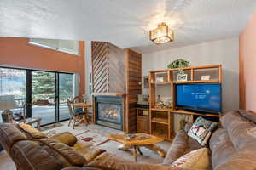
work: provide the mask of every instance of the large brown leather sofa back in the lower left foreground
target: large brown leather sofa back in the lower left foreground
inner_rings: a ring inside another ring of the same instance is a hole
[[[86,160],[76,150],[28,125],[0,125],[0,142],[19,170],[83,167]]]

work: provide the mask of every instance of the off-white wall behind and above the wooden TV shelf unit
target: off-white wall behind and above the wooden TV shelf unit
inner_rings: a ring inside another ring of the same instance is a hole
[[[171,42],[172,43],[172,42]],[[239,39],[238,37],[212,42],[203,42],[182,48],[170,48],[143,54],[143,76],[154,69],[166,69],[175,59],[185,59],[192,66],[223,66],[223,110],[239,107]],[[148,89],[143,88],[148,94]]]

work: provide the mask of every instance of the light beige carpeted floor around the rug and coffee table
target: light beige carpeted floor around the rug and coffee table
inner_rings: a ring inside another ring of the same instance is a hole
[[[61,132],[68,131],[70,133],[73,133],[74,135],[78,135],[79,133],[83,133],[84,131],[89,131],[90,133],[97,133],[105,137],[108,137],[110,133],[123,133],[122,131],[119,131],[119,130],[115,130],[108,127],[102,127],[98,125],[93,125],[93,124],[89,126],[79,125],[78,127],[75,127],[75,129],[73,129],[72,127],[68,127],[67,126],[68,122],[61,122],[61,124],[62,124],[61,126],[59,125],[56,127],[55,126],[46,127],[44,128],[45,130],[43,131],[43,133],[50,133],[50,132],[61,133]],[[164,150],[168,150],[171,143],[164,141],[157,145],[159,145]],[[132,150],[128,150],[128,151],[118,150],[117,149],[118,146],[119,146],[119,143],[114,142],[112,140],[100,145],[102,149],[107,150],[110,153],[123,156],[125,159],[133,161]],[[156,164],[156,163],[161,163],[163,161],[163,158],[161,158],[151,150],[142,148],[142,151],[144,156],[141,156],[141,155],[137,156],[137,162],[139,163]],[[0,169],[15,170],[14,162],[9,158],[9,156],[5,151],[2,151],[0,153]]]

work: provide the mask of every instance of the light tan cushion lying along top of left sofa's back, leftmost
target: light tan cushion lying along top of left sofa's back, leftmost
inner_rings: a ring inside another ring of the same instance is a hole
[[[32,137],[32,139],[47,138],[44,133],[41,133],[37,128],[32,127],[31,125],[20,123],[17,126],[20,127],[20,129],[25,132],[27,136]]]

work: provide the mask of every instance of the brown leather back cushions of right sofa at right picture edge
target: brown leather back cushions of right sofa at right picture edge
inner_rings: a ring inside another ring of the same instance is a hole
[[[256,125],[238,111],[226,113],[220,121],[223,128],[210,139],[213,169],[256,169]]]

